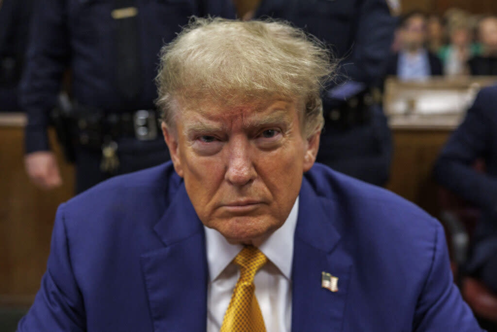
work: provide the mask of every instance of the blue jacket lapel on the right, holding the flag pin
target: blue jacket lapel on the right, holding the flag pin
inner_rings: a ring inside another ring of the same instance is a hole
[[[304,178],[292,264],[292,331],[342,331],[352,265],[341,248],[343,221],[336,202],[318,197]],[[322,272],[338,278],[338,291],[322,288]]]

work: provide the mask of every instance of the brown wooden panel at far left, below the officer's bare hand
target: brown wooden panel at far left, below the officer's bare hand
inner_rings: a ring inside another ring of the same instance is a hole
[[[73,168],[56,147],[64,185],[43,191],[23,165],[23,128],[0,126],[0,305],[25,305],[40,286],[50,249],[55,212],[73,195]]]

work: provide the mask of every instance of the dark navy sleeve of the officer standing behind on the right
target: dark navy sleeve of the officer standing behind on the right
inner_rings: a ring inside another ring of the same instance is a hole
[[[396,20],[390,14],[386,0],[362,1],[352,54],[339,75],[367,84],[376,82],[385,72]]]

